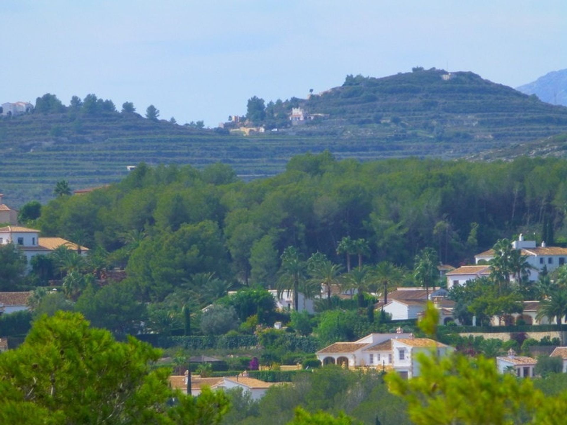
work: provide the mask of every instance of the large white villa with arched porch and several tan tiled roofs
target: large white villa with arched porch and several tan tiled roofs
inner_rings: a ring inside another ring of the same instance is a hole
[[[420,375],[416,355],[420,352],[445,356],[453,348],[429,338],[414,338],[401,328],[395,334],[370,334],[354,342],[336,342],[316,352],[323,364],[346,368],[370,367],[394,370],[411,378]]]

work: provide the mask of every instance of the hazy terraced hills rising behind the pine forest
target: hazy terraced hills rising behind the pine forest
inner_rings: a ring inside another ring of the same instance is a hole
[[[113,105],[42,105],[43,112],[0,120],[0,192],[14,206],[52,197],[61,179],[73,189],[120,180],[126,165],[139,162],[202,168],[220,161],[249,178],[281,172],[307,151],[360,160],[462,158],[567,133],[565,107],[473,73],[421,68],[386,78],[349,75],[309,99],[261,103],[248,125],[267,130],[249,137],[148,120]],[[290,122],[292,108],[307,119]]]

